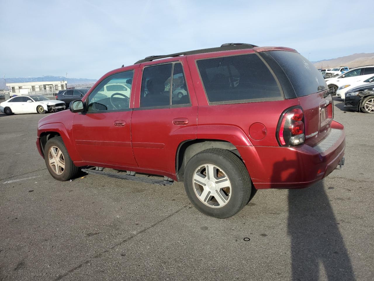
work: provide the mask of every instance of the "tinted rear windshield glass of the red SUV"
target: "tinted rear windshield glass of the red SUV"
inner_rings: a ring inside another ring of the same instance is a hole
[[[327,89],[325,79],[313,64],[299,53],[269,51],[294,87],[297,97],[307,96]]]

